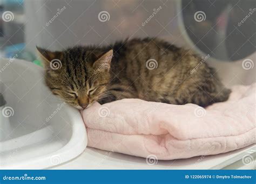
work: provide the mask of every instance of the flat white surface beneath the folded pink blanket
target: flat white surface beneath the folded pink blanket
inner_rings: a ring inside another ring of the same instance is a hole
[[[256,145],[228,153],[176,160],[151,160],[86,147],[76,159],[52,169],[256,169]],[[245,158],[246,157],[246,158]],[[244,158],[244,159],[243,159]],[[240,165],[237,164],[240,162]]]

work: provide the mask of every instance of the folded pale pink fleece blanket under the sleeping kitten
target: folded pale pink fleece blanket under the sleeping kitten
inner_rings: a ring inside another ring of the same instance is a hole
[[[225,153],[255,143],[255,88],[235,86],[206,109],[124,99],[82,112],[88,146],[160,160]]]

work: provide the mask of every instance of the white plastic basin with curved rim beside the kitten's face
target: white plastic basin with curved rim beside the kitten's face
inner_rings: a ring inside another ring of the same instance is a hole
[[[48,168],[84,151],[87,135],[79,111],[50,93],[41,67],[0,59],[0,93],[6,101],[0,107],[1,169]]]

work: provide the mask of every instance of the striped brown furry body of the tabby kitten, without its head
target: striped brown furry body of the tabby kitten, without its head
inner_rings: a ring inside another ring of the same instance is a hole
[[[141,98],[206,106],[225,101],[230,94],[214,70],[197,55],[166,41],[132,39],[116,43],[112,48],[109,90],[117,100]],[[194,68],[197,69],[191,74]]]

